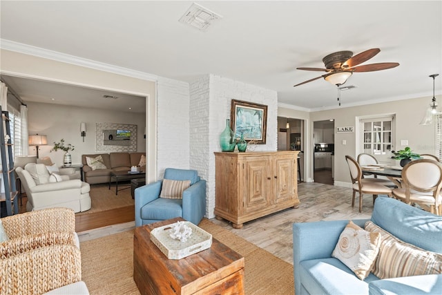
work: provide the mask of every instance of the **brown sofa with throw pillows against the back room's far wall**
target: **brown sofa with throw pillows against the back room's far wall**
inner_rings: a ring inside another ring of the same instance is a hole
[[[118,152],[81,155],[81,163],[84,165],[85,182],[106,183],[111,180],[112,171],[131,171],[132,166],[140,166],[140,171],[146,171],[146,153]]]

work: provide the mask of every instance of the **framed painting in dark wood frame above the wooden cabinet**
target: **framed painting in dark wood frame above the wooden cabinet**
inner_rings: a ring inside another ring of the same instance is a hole
[[[265,144],[267,134],[267,106],[232,99],[230,110],[230,128],[236,138],[244,136],[244,140],[256,144]]]

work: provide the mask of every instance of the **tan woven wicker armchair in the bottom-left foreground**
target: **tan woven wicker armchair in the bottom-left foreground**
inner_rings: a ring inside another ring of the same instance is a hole
[[[9,240],[0,242],[0,294],[44,294],[67,285],[88,294],[72,209],[31,211],[1,222]]]

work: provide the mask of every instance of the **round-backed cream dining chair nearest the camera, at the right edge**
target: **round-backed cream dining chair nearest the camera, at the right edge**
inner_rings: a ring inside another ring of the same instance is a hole
[[[402,170],[403,185],[393,189],[393,198],[419,204],[426,211],[442,216],[442,164],[435,160],[414,160]]]

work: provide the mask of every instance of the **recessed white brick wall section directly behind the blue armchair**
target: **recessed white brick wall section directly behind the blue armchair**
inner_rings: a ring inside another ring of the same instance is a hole
[[[157,81],[157,178],[168,167],[189,169],[189,84]]]

